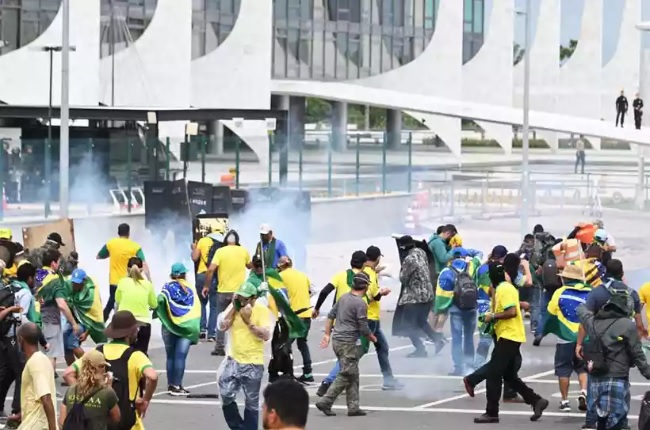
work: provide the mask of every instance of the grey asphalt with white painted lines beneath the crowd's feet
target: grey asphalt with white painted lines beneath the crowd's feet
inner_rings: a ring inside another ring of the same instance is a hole
[[[385,328],[390,333],[391,314],[382,317]],[[314,362],[314,376],[317,381],[330,370],[334,355],[330,349],[321,350],[318,346],[322,336],[323,322],[318,321],[312,326],[310,346]],[[551,405],[539,423],[531,423],[530,408],[524,404],[505,404],[501,410],[501,429],[515,430],[521,426],[545,426],[554,429],[577,429],[584,423],[584,415],[573,405],[571,413],[558,410],[559,396],[557,381],[553,376],[553,355],[555,340],[545,339],[540,347],[532,346],[532,335],[529,343],[524,346],[524,366],[520,375],[540,395],[548,398]],[[437,428],[461,428],[473,425],[473,418],[483,413],[485,397],[483,386],[477,387],[477,394],[470,399],[464,391],[461,379],[449,376],[452,370],[450,348],[447,346],[437,357],[409,359],[406,358],[412,347],[403,338],[389,338],[391,346],[391,364],[394,374],[405,384],[405,389],[399,392],[381,391],[381,375],[376,355],[371,352],[361,360],[361,405],[369,411],[368,416],[349,418],[345,415],[345,398],[340,398],[335,411],[336,417],[325,417],[317,411],[313,404],[317,401],[315,395],[317,386],[308,387],[311,395],[311,410],[308,428],[327,430],[353,430],[365,428],[430,428],[435,423]],[[213,344],[201,343],[192,347],[187,364],[184,385],[195,394],[216,394],[216,369],[220,357],[212,357],[209,352]],[[302,358],[297,350],[294,356],[296,375],[300,375]],[[166,378],[164,374],[165,355],[162,348],[153,349],[150,353],[156,369],[160,371],[158,392],[150,406],[145,419],[148,429],[171,430],[191,428],[193,430],[226,428],[221,413],[219,400],[213,399],[182,399],[170,397],[165,393]],[[631,425],[635,426],[640,408],[640,396],[650,386],[642,380],[636,370],[632,371],[632,406],[630,412]],[[265,381],[266,384],[266,381]],[[578,387],[572,386],[572,397],[577,398]],[[61,393],[63,392],[61,388]],[[238,400],[243,400],[239,397]],[[8,400],[9,402],[9,400]],[[574,400],[575,402],[575,400]],[[8,406],[8,404],[7,404]],[[243,408],[243,406],[242,406]]]

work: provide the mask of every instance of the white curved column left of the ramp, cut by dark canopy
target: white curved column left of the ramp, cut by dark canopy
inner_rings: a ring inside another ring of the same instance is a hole
[[[177,1],[177,0],[172,0]],[[239,15],[217,49],[192,61],[192,106],[202,108],[269,109],[271,105],[271,47],[273,3],[241,0]],[[222,123],[268,166],[265,121]]]

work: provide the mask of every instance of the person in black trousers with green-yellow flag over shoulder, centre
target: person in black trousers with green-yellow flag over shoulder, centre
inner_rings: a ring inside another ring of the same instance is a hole
[[[257,255],[253,257],[253,270],[246,282],[258,289],[259,297],[264,297],[268,292],[270,295],[267,297],[268,307],[276,318],[271,340],[272,358],[269,362],[269,383],[277,380],[280,373],[293,378],[291,340],[305,337],[307,327],[291,309],[280,273],[272,268],[264,270],[264,262]]]

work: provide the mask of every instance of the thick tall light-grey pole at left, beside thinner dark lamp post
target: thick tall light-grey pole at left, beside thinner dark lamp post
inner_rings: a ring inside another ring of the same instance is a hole
[[[70,0],[63,0],[61,47],[61,136],[59,138],[59,216],[68,217],[70,185]]]

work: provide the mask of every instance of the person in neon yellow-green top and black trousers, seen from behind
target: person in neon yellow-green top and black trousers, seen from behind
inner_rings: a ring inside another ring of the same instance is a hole
[[[129,275],[119,280],[115,290],[115,305],[118,311],[129,311],[138,320],[139,329],[133,348],[145,355],[151,339],[151,311],[158,306],[153,285],[143,276],[144,262],[131,257],[127,267]]]

